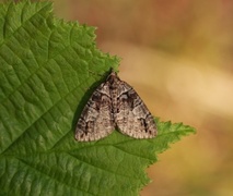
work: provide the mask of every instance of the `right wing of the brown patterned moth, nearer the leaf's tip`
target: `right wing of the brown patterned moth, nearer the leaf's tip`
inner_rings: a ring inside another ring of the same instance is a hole
[[[119,131],[135,138],[156,136],[156,125],[150,111],[130,85],[118,85],[117,113],[115,121]]]

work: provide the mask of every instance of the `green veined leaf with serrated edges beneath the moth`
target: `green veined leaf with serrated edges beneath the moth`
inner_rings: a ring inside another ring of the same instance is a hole
[[[94,28],[57,20],[50,2],[0,5],[1,195],[137,195],[156,154],[195,130],[158,121],[153,139],[115,131],[78,143],[77,120],[118,59]]]

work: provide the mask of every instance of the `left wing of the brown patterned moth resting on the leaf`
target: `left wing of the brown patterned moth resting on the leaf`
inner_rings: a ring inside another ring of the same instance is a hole
[[[91,96],[75,127],[79,142],[97,140],[114,131],[109,85],[103,83]]]

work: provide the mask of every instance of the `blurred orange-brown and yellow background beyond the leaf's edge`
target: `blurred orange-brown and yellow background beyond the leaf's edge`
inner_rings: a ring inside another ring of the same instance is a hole
[[[162,121],[197,128],[159,156],[142,196],[233,195],[233,1],[55,0]]]

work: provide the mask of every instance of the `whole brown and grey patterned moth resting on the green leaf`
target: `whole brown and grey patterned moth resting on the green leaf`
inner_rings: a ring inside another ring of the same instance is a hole
[[[79,142],[98,140],[115,127],[135,138],[153,138],[156,124],[135,89],[112,71],[92,94],[75,127]]]

